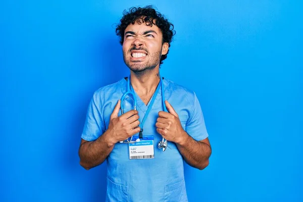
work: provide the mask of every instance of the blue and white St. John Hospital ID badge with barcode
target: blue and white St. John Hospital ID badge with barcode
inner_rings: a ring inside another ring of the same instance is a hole
[[[139,136],[133,136],[132,140]],[[139,142],[129,143],[129,159],[154,159],[154,136],[144,135]]]

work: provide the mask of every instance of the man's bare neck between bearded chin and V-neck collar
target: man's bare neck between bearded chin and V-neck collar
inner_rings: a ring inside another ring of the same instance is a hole
[[[159,68],[155,68],[144,74],[130,71],[130,82],[138,94],[154,94],[160,82]]]

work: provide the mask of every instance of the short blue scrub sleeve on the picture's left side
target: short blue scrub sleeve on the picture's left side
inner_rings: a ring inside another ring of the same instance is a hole
[[[86,141],[96,140],[105,132],[99,91],[95,91],[88,105],[85,124],[81,138]]]

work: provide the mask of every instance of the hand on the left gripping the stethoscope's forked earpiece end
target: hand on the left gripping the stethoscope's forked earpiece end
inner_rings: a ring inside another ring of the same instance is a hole
[[[132,135],[140,132],[140,127],[138,125],[139,115],[137,110],[131,110],[120,117],[118,113],[120,110],[121,100],[118,103],[111,115],[108,132],[111,134],[111,141],[115,144],[119,141],[126,140]]]

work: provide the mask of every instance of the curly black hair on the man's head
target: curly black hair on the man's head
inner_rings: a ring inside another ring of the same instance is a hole
[[[130,23],[135,24],[135,22],[139,24],[145,23],[150,27],[153,25],[159,27],[162,32],[162,44],[167,42],[170,47],[173,36],[176,34],[174,25],[170,23],[164,15],[156,11],[153,6],[145,6],[143,8],[132,7],[129,11],[123,11],[123,17],[120,20],[120,24],[116,26],[116,34],[120,36],[121,45],[124,42],[124,32],[126,27]],[[167,58],[167,54],[161,56],[160,65],[163,64],[163,61]]]

